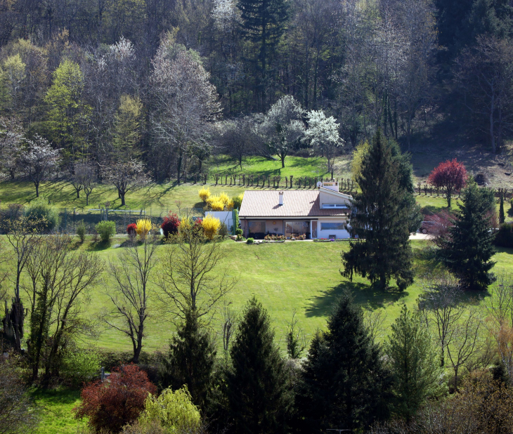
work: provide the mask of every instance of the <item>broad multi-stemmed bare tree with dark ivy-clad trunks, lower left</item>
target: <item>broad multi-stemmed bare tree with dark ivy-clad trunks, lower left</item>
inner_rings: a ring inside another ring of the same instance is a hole
[[[28,353],[32,381],[39,375],[44,358],[44,386],[58,374],[63,347],[79,335],[93,334],[84,319],[89,291],[103,272],[98,256],[71,249],[68,235],[44,237],[30,259],[32,303]],[[34,265],[36,265],[34,267]]]

